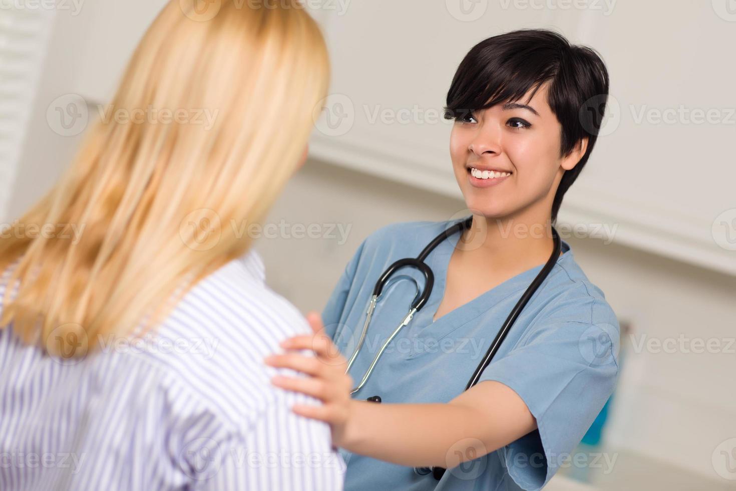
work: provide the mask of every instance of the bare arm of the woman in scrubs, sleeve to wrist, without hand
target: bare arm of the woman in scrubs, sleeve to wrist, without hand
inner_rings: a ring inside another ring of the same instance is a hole
[[[524,401],[497,381],[482,381],[449,403],[351,404],[340,446],[413,467],[455,467],[537,428]]]

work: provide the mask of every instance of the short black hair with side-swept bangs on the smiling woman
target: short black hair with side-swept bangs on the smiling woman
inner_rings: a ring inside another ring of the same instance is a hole
[[[548,29],[520,29],[481,41],[460,63],[445,106],[446,119],[467,116],[502,102],[536,93],[550,82],[548,104],[562,125],[560,155],[569,155],[583,138],[587,151],[566,171],[552,205],[556,222],[562,197],[590,157],[608,100],[609,76],[601,57]]]

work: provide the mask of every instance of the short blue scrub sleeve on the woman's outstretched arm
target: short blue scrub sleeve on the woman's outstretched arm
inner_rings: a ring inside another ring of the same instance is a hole
[[[498,381],[524,400],[537,430],[499,450],[509,476],[539,490],[570,458],[618,378],[618,321],[549,322],[492,361],[479,381]],[[559,319],[559,317],[557,317]]]

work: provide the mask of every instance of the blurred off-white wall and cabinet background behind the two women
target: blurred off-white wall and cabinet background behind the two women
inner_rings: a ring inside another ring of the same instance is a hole
[[[217,1],[202,3],[216,12]],[[4,227],[54,183],[105,115],[164,3],[0,2]],[[265,226],[245,230],[272,288],[304,312],[319,311],[378,227],[469,214],[442,119],[454,71],[491,35],[556,29],[596,49],[611,74],[601,138],[557,229],[623,332],[618,388],[549,489],[736,489],[736,2],[305,7],[328,39],[333,83],[308,163]]]

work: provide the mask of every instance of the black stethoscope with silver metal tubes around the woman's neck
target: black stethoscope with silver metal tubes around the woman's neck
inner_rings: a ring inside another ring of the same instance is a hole
[[[381,275],[381,278],[378,278],[378,281],[375,283],[375,288],[373,289],[373,294],[370,298],[370,301],[368,303],[368,310],[366,313],[366,320],[363,325],[363,331],[361,332],[361,337],[358,340],[358,345],[355,347],[355,351],[353,352],[353,355],[350,356],[350,360],[347,362],[347,370],[345,370],[345,373],[350,372],[350,367],[353,366],[353,362],[355,361],[355,358],[357,358],[358,353],[360,353],[361,348],[363,347],[363,343],[366,338],[366,333],[368,332],[368,326],[370,325],[371,317],[373,316],[373,311],[375,311],[375,306],[378,303],[379,297],[381,297],[381,292],[383,292],[383,287],[386,286],[386,283],[388,283],[389,279],[392,278],[394,275],[394,272],[397,272],[397,270],[405,268],[405,267],[413,267],[417,268],[422,272],[422,275],[424,275],[425,278],[425,286],[422,292],[417,294],[417,297],[414,298],[414,302],[411,303],[411,307],[409,308],[408,314],[406,314],[406,317],[403,318],[403,320],[400,322],[399,325],[397,325],[396,329],[391,333],[391,335],[386,338],[386,341],[383,342],[383,345],[381,345],[381,349],[378,350],[378,353],[373,357],[373,360],[371,361],[371,364],[368,366],[368,369],[364,373],[363,377],[361,378],[361,381],[358,383],[357,386],[353,390],[350,391],[350,394],[355,394],[355,392],[358,392],[368,381],[368,378],[373,372],[373,369],[375,368],[375,365],[378,363],[378,360],[381,358],[381,355],[383,355],[383,351],[386,350],[386,347],[392,342],[394,337],[401,331],[402,328],[404,328],[408,323],[411,321],[411,318],[414,317],[414,314],[416,314],[418,311],[421,310],[421,308],[427,303],[427,300],[429,300],[430,295],[432,294],[432,287],[434,286],[434,273],[432,273],[432,269],[425,263],[425,259],[427,256],[445,239],[449,238],[453,233],[462,233],[467,228],[470,228],[470,225],[473,223],[473,216],[468,217],[467,219],[463,220],[462,222],[456,223],[452,227],[447,228],[447,230],[443,231],[439,234],[439,236],[436,236],[432,241],[427,244],[427,247],[420,252],[420,255],[417,256],[417,258],[404,258],[399,259],[394,264],[389,266],[388,269],[386,269],[385,272],[383,272],[383,275]],[[526,292],[521,296],[519,301],[516,305],[514,305],[514,308],[512,308],[511,313],[509,314],[509,317],[506,318],[506,322],[503,322],[503,325],[501,326],[500,330],[498,331],[498,334],[496,334],[495,339],[493,339],[493,342],[491,343],[491,346],[488,348],[488,351],[486,352],[486,355],[481,360],[481,363],[478,364],[478,367],[475,368],[475,372],[473,372],[473,376],[470,377],[470,380],[467,382],[467,385],[465,386],[465,390],[470,389],[470,387],[474,386],[475,384],[478,384],[478,379],[481,378],[481,373],[488,367],[491,360],[495,356],[495,354],[498,352],[498,349],[500,348],[501,343],[503,342],[503,339],[506,339],[506,334],[511,331],[512,325],[514,325],[514,322],[516,321],[517,317],[521,314],[521,311],[528,303],[529,299],[532,295],[534,295],[534,292],[537,291],[539,288],[539,285],[541,285],[544,280],[549,275],[550,271],[552,270],[553,266],[557,262],[557,258],[559,258],[560,251],[562,250],[562,241],[559,238],[559,234],[557,233],[557,230],[555,230],[554,227],[552,227],[552,236],[554,239],[554,247],[552,251],[552,255],[547,260],[547,263],[542,267],[542,271],[537,274],[537,278],[534,278],[534,280],[531,282],[531,284],[526,289]],[[418,288],[418,287],[417,287]],[[367,400],[371,402],[380,403],[381,398],[378,395],[374,395],[370,398],[367,398]],[[445,469],[442,467],[414,467],[414,473],[417,473],[420,476],[425,476],[429,473],[432,473],[434,478],[436,478],[438,481],[442,476],[445,474]]]

